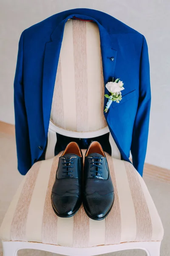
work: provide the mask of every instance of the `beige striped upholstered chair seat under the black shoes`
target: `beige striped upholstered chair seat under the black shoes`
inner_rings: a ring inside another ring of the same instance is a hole
[[[161,241],[163,227],[144,180],[131,163],[105,154],[115,200],[104,220],[88,218],[83,206],[71,218],[55,215],[51,206],[51,188],[60,153],[35,163],[23,178],[1,225],[0,238],[68,247]]]

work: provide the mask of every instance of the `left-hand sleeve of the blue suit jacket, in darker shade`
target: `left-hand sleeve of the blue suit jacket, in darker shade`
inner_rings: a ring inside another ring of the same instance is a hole
[[[31,151],[23,88],[23,35],[24,31],[20,36],[18,45],[17,65],[14,77],[14,112],[18,170],[22,175],[25,175],[31,168]]]

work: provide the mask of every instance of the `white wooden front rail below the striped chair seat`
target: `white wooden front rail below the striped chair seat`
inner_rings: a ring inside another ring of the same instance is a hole
[[[142,249],[146,251],[147,256],[159,256],[161,242],[131,242],[113,245],[100,245],[88,248],[63,247],[54,244],[24,241],[2,241],[2,244],[3,256],[17,256],[17,251],[21,249],[44,250],[68,256],[93,256],[121,250]]]

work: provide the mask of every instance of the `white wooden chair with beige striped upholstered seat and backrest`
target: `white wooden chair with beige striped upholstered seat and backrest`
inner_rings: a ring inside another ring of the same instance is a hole
[[[112,153],[106,153],[106,157],[115,200],[109,215],[94,221],[81,207],[73,217],[59,218],[52,209],[51,187],[61,155],[54,155],[56,133],[73,138],[108,133],[103,95],[98,27],[88,21],[68,20],[57,67],[45,160],[34,163],[23,178],[3,219],[0,238],[4,256],[16,256],[24,248],[70,256],[139,248],[148,256],[160,255],[164,230],[159,214],[144,180],[131,163],[120,159],[111,135]]]

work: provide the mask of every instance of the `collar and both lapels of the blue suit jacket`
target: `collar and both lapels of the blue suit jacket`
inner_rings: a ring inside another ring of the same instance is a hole
[[[42,111],[43,111],[43,121],[44,121],[44,129],[45,129],[46,137],[48,134],[48,125],[50,120],[51,105],[52,105],[52,99],[53,99],[57,66],[59,61],[59,52],[61,49],[62,38],[64,33],[64,26],[66,21],[69,18],[74,18],[74,16],[80,19],[94,20],[94,22],[96,22],[97,25],[99,26],[104,83],[106,84],[108,81],[112,81],[112,77],[114,76],[114,70],[116,67],[117,50],[113,49],[114,45],[106,29],[93,17],[88,17],[85,15],[72,14],[66,17],[64,20],[62,20],[62,22],[59,23],[59,25],[56,27],[56,29],[54,29],[53,33],[51,34],[51,41],[45,44],[43,79],[42,79]],[[105,93],[108,93],[108,90],[106,88],[105,88]],[[107,103],[107,99],[105,98],[103,109],[106,103]],[[106,113],[105,113],[105,118],[107,120]]]

